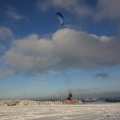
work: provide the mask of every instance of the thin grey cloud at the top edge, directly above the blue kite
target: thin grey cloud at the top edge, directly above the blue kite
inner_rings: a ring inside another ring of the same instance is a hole
[[[92,9],[88,6],[86,6],[82,1],[80,0],[44,0],[40,1],[38,0],[36,3],[36,6],[41,11],[47,11],[51,8],[62,8],[64,10],[67,10],[71,13],[75,13],[78,15],[88,15],[91,14]]]

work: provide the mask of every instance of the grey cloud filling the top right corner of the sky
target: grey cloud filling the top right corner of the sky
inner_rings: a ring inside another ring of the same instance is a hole
[[[97,19],[108,18],[111,20],[120,19],[120,0],[98,0]]]

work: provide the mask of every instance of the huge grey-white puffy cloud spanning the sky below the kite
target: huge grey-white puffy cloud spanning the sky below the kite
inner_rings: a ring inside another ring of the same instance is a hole
[[[104,38],[104,40],[103,40]],[[94,69],[120,64],[120,41],[73,29],[60,29],[51,38],[31,34],[14,40],[2,59],[15,70],[38,74],[69,68]]]

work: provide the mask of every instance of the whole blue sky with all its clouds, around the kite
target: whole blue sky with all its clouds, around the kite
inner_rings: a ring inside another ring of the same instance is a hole
[[[0,0],[0,99],[120,97],[119,5]]]

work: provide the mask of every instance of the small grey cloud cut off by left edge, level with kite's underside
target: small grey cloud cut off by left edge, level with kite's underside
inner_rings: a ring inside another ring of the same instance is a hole
[[[8,38],[12,36],[13,36],[13,33],[11,29],[4,26],[0,26],[0,38]]]

